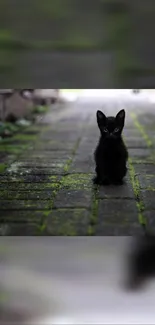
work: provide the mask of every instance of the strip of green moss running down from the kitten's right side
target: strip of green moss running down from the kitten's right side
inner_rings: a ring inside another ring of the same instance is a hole
[[[135,169],[133,167],[132,159],[129,158],[128,162],[129,162],[129,174],[130,174],[131,184],[133,187],[136,204],[137,204],[137,208],[138,208],[139,222],[140,222],[140,224],[146,225],[146,219],[143,216],[144,203],[143,203],[142,199],[140,198],[140,184],[139,184],[138,178],[136,176]]]

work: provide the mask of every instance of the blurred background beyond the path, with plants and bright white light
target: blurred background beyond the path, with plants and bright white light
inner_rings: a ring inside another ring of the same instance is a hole
[[[104,102],[155,102],[155,89],[0,89],[0,139],[39,122],[49,107],[59,112],[65,103],[77,100]],[[88,108],[87,108],[88,110]]]

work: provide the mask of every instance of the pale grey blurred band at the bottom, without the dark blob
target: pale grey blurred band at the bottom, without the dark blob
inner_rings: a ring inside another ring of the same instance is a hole
[[[1,238],[0,324],[154,324],[155,284],[124,286],[133,247],[127,237]]]

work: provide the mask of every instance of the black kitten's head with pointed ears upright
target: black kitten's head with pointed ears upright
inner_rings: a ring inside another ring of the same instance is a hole
[[[118,139],[123,131],[125,111],[122,109],[116,117],[106,117],[101,111],[97,111],[97,124],[101,135],[107,139]]]

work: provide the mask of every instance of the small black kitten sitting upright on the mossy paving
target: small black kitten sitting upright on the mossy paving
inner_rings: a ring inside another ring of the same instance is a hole
[[[124,128],[125,111],[116,117],[106,117],[97,111],[97,123],[101,132],[99,144],[95,150],[96,177],[95,184],[122,184],[126,175],[128,152],[121,134]]]

